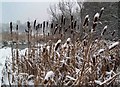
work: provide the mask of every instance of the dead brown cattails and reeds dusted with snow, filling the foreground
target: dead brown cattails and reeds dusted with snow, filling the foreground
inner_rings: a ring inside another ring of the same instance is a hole
[[[100,37],[95,38],[94,36],[103,10],[104,8],[100,13],[95,14],[92,29],[88,29],[89,16],[85,17],[82,40],[74,31],[73,25],[75,24],[72,23],[72,20],[71,37],[67,39],[64,32],[56,36],[45,34],[40,36],[38,33],[32,36],[30,22],[27,22],[26,37],[29,44],[26,52],[20,55],[19,45],[17,44],[16,49],[12,49],[11,44],[12,62],[10,65],[6,65],[12,66],[12,81],[9,81],[9,85],[91,87],[106,87],[107,85],[112,87],[118,84],[117,77],[120,75],[118,70],[120,65],[119,41],[108,42],[103,39],[107,27],[103,28]],[[12,22],[10,26],[12,38]],[[40,28],[40,26],[36,26],[36,21],[34,21],[34,29]],[[16,26],[16,32],[18,29],[19,26]],[[55,31],[57,29],[59,28],[56,28]],[[16,42],[18,40],[19,35],[17,34]],[[39,41],[42,40],[45,44],[40,45]],[[6,70],[8,71],[7,68]],[[9,75],[8,77],[10,77]]]

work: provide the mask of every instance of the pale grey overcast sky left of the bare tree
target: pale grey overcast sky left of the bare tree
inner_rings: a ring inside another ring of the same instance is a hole
[[[22,23],[37,19],[39,22],[49,19],[48,8],[55,2],[2,2],[2,22]]]

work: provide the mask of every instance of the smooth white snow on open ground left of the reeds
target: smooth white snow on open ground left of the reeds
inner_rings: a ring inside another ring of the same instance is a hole
[[[0,80],[2,78],[2,69],[5,64],[5,60],[10,55],[11,55],[11,48],[1,48],[0,49]],[[1,86],[1,82],[0,82],[0,86]]]

